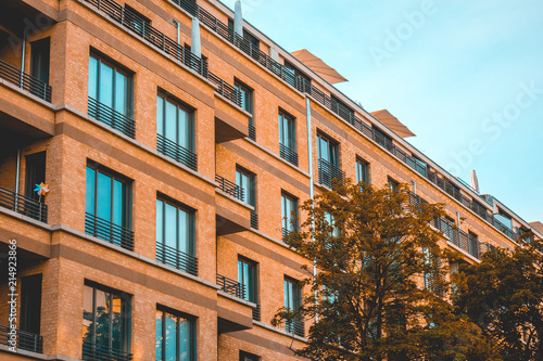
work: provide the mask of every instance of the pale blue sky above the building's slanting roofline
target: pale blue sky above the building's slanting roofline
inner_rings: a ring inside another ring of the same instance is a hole
[[[223,0],[233,9],[235,0]],[[289,52],[308,49],[428,157],[543,221],[543,1],[242,0]]]

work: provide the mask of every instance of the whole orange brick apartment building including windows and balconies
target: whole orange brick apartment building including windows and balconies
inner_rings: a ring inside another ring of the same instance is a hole
[[[281,238],[332,178],[444,203],[434,227],[466,262],[541,236],[235,17],[217,0],[0,2],[1,360],[296,359],[308,325],[270,319],[308,260]]]

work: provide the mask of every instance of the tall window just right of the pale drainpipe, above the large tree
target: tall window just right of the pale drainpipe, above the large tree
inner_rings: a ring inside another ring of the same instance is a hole
[[[339,166],[339,145],[323,134],[317,134],[317,141],[318,182],[331,189],[334,182],[342,183],[345,179]]]

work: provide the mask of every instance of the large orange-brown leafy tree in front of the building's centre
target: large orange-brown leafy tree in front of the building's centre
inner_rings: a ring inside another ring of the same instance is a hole
[[[351,181],[307,201],[307,219],[286,242],[315,269],[298,310],[273,323],[303,319],[311,360],[493,360],[480,328],[443,299],[452,254],[430,222],[442,205],[409,202],[401,184],[374,189]],[[425,287],[424,284],[429,287]]]

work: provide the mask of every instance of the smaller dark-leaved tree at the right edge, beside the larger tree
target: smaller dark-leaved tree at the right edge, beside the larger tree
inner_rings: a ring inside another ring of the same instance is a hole
[[[455,274],[453,301],[497,345],[504,361],[543,360],[543,244],[496,248]]]

